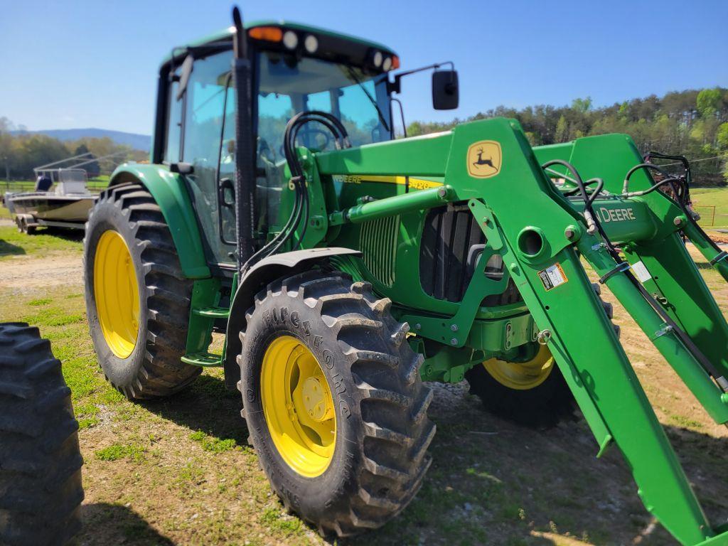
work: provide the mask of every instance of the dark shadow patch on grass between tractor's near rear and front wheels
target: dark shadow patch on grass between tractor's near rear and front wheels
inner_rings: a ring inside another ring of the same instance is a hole
[[[248,429],[240,416],[240,392],[227,390],[222,379],[207,373],[172,397],[142,404],[152,413],[190,430],[202,430],[221,440],[232,438],[239,446],[248,444]]]

